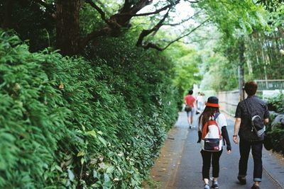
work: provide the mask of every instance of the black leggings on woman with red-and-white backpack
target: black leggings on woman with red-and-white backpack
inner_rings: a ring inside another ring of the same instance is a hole
[[[222,154],[222,151],[223,149],[221,151],[204,151],[204,150],[200,151],[203,159],[202,179],[204,178],[209,179],[211,159],[212,159],[212,176],[214,178],[219,177],[219,159]]]

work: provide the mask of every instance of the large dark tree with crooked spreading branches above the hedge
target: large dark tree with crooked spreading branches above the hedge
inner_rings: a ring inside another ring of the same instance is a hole
[[[89,42],[97,40],[104,36],[118,37],[125,30],[129,30],[131,27],[131,21],[133,18],[139,16],[155,16],[158,21],[153,23],[151,29],[142,30],[136,45],[142,46],[146,49],[153,47],[157,50],[163,50],[151,42],[144,42],[144,38],[148,35],[157,32],[160,27],[165,23],[170,24],[166,19],[170,11],[173,11],[175,5],[180,3],[180,0],[165,0],[158,1],[153,4],[153,1],[141,0],[141,1],[4,1],[2,2],[1,9],[3,10],[3,19],[1,20],[3,27],[9,27],[6,23],[9,23],[11,19],[16,19],[15,11],[19,10],[22,14],[23,11],[29,11],[33,16],[39,16],[41,13],[43,18],[50,23],[55,23],[56,31],[56,47],[61,50],[63,55],[75,55],[78,52],[82,52]],[[18,5],[21,4],[21,8]],[[31,6],[37,8],[33,10]],[[114,10],[111,7],[115,7]],[[152,11],[146,11],[145,13],[138,13],[143,8],[152,6]],[[94,13],[95,12],[95,13]],[[33,17],[31,16],[31,17]],[[87,16],[87,17],[80,17]],[[91,17],[92,16],[92,17]],[[28,22],[34,21],[29,17]],[[87,21],[87,19],[90,19]],[[80,26],[81,23],[96,23],[94,27]],[[99,24],[97,24],[99,23]],[[13,28],[13,24],[10,25]],[[81,33],[83,31],[87,33]],[[86,28],[88,28],[86,30]],[[20,28],[18,28],[20,29]],[[195,29],[195,28],[194,28]]]

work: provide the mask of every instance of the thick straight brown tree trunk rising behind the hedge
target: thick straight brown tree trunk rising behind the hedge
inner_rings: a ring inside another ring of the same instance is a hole
[[[56,4],[56,47],[62,55],[75,55],[79,48],[80,0],[58,0]]]

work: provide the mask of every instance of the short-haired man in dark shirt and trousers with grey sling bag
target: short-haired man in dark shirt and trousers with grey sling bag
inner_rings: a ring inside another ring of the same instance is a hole
[[[241,184],[246,184],[246,171],[248,168],[249,151],[253,155],[253,181],[254,184],[251,189],[259,189],[259,183],[262,178],[262,149],[263,139],[259,139],[256,132],[253,131],[251,125],[251,115],[253,113],[263,118],[264,124],[268,123],[268,107],[264,101],[261,101],[255,96],[257,84],[254,81],[249,81],[245,84],[244,90],[248,94],[248,98],[239,102],[236,107],[236,121],[234,125],[234,143],[239,144],[239,153],[241,158],[239,160],[239,175],[238,180]],[[248,107],[249,106],[249,107]],[[239,131],[239,138],[237,133]]]

